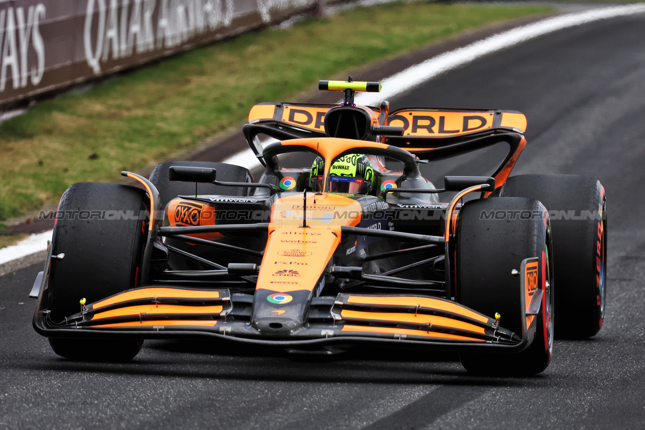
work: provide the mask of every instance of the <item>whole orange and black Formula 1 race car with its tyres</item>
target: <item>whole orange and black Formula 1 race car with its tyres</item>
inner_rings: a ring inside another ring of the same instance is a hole
[[[337,353],[359,344],[457,351],[471,373],[533,375],[557,332],[602,327],[599,181],[509,177],[526,118],[354,103],[379,83],[321,81],[332,104],[261,103],[244,136],[264,166],[159,164],[134,186],[63,194],[34,327],[55,353],[129,360],[146,338]],[[277,139],[264,145],[264,135]],[[496,144],[488,176],[424,179],[424,162]],[[299,167],[286,167],[296,162]],[[448,197],[442,197],[448,196]],[[554,271],[554,266],[557,272]]]

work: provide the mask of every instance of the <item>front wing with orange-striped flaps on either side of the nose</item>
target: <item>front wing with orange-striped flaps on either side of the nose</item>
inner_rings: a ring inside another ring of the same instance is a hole
[[[522,275],[528,261],[522,262]],[[253,295],[155,285],[130,289],[87,306],[79,304],[79,313],[55,322],[43,308],[47,278],[43,277],[39,288],[33,322],[45,337],[220,339],[290,348],[381,344],[517,353],[533,341],[537,318],[530,315],[539,311],[538,298],[526,300],[528,287],[521,276],[518,287],[521,303],[526,303],[526,308],[522,306],[521,337],[501,327],[499,320],[444,298],[352,293],[312,298],[307,323],[288,335],[275,335],[250,323]]]

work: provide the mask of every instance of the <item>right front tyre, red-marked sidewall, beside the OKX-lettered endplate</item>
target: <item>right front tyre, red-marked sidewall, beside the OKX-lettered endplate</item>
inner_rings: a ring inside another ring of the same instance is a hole
[[[531,318],[533,342],[521,353],[461,353],[461,363],[479,375],[535,375],[553,355],[553,265],[548,214],[533,199],[493,197],[472,200],[459,212],[457,228],[457,301],[494,317],[522,337],[520,279],[513,269],[537,257],[543,290],[539,315]],[[529,331],[532,331],[529,328]]]

